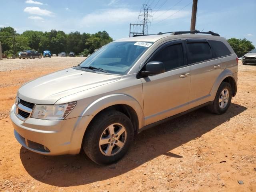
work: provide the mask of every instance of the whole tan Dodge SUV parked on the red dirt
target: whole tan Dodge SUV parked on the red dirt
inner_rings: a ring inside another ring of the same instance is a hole
[[[238,58],[213,32],[116,40],[78,66],[21,86],[10,118],[25,148],[113,163],[135,134],[202,106],[226,112],[236,95]]]

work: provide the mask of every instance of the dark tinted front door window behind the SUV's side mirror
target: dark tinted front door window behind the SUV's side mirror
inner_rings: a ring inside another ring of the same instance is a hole
[[[151,61],[163,62],[166,71],[183,66],[184,58],[182,44],[170,45],[163,48]]]

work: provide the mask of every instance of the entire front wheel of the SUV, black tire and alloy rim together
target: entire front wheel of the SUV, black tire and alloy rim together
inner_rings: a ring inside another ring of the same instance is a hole
[[[133,126],[123,113],[109,110],[94,118],[83,141],[86,155],[97,164],[111,164],[122,158],[133,140]]]

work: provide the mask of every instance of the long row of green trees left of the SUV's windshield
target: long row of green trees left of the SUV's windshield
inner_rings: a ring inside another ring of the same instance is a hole
[[[50,32],[27,30],[18,34],[12,27],[0,28],[0,42],[2,52],[6,55],[18,54],[23,50],[36,50],[42,53],[50,50],[52,54],[60,52],[74,52],[87,56],[101,46],[112,42],[113,39],[106,31],[95,34],[75,31],[66,34],[63,31],[52,29]]]

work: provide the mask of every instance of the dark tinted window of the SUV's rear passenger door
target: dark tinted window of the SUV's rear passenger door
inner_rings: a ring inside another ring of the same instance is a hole
[[[205,61],[212,58],[212,51],[207,42],[190,42],[188,47],[188,64]]]

